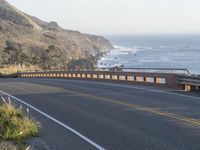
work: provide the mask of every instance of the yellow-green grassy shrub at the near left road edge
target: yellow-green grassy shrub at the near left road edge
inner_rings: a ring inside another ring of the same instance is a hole
[[[9,103],[0,103],[0,141],[22,141],[39,134],[40,123]]]

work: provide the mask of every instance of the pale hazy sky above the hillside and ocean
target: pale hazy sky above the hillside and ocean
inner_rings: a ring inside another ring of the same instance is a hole
[[[68,29],[93,34],[200,33],[200,0],[8,0]]]

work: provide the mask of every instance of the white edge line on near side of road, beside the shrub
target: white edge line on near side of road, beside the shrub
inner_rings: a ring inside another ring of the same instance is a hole
[[[91,145],[93,145],[93,146],[96,147],[97,149],[99,149],[99,150],[105,150],[105,148],[99,146],[98,144],[96,144],[95,142],[93,142],[92,140],[90,140],[89,138],[85,137],[83,134],[81,134],[81,133],[79,133],[78,131],[72,129],[71,127],[67,126],[66,124],[64,124],[64,123],[62,123],[62,122],[60,122],[60,121],[58,121],[57,119],[51,117],[50,115],[44,113],[43,111],[41,111],[41,110],[35,108],[34,106],[32,106],[32,105],[30,105],[30,104],[24,102],[23,100],[21,100],[21,99],[15,97],[15,96],[13,96],[13,95],[10,95],[10,94],[8,94],[8,93],[6,93],[6,92],[4,92],[4,91],[1,91],[1,90],[0,90],[0,92],[1,92],[2,94],[4,94],[4,95],[7,95],[7,96],[9,96],[9,97],[11,97],[11,98],[17,100],[17,101],[20,102],[20,103],[22,103],[22,104],[24,104],[24,105],[30,107],[31,109],[35,110],[36,112],[42,114],[43,116],[49,118],[50,120],[56,122],[57,124],[63,126],[63,127],[66,128],[66,129],[70,130],[71,132],[73,132],[74,134],[76,134],[77,136],[79,136],[80,138],[82,138],[83,140],[85,140],[86,142],[90,143]]]

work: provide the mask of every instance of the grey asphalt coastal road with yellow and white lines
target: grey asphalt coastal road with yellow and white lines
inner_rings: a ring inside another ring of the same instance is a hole
[[[58,150],[199,150],[200,94],[65,79],[0,79]],[[6,95],[7,94],[7,95]],[[19,102],[21,101],[21,102]]]

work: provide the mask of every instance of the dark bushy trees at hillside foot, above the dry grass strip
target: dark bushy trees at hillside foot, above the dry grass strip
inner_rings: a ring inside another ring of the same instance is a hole
[[[62,54],[61,50],[50,45],[41,55],[28,56],[19,43],[6,41],[5,48],[1,50],[0,64],[1,66],[38,66],[42,69],[50,69],[52,67],[65,67],[68,58]]]

